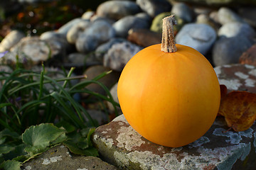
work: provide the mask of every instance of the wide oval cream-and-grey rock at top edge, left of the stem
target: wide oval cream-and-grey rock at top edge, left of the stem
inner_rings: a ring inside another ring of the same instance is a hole
[[[124,16],[139,13],[141,9],[133,1],[105,1],[97,7],[97,16],[119,20]]]

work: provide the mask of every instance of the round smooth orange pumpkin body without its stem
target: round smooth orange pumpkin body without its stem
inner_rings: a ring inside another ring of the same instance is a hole
[[[166,147],[188,145],[203,136],[220,106],[220,85],[200,52],[176,45],[176,52],[151,45],[124,67],[117,96],[124,117],[147,140]]]

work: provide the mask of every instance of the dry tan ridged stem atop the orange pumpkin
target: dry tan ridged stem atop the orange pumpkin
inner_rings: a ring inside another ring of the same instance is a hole
[[[161,40],[161,51],[176,52],[177,48],[174,39],[174,26],[176,25],[174,14],[163,19],[163,33]]]

